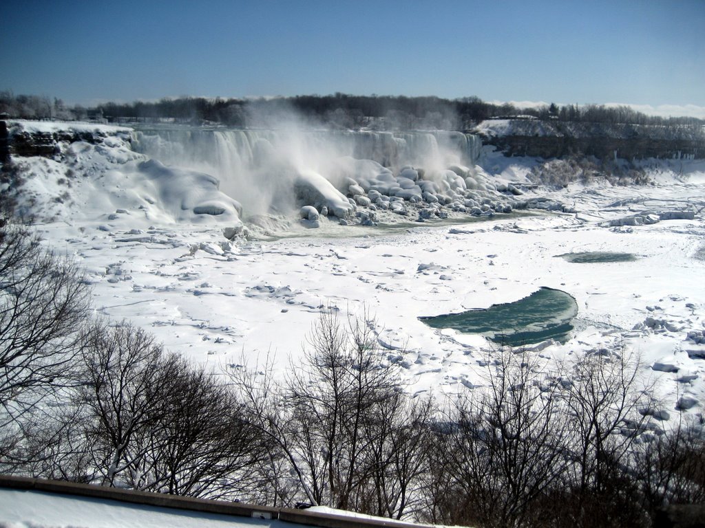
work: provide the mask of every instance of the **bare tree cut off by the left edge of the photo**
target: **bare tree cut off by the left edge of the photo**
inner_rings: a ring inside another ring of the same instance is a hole
[[[26,454],[20,421],[71,380],[90,287],[30,231],[0,225],[0,455]],[[20,448],[17,451],[17,448]]]

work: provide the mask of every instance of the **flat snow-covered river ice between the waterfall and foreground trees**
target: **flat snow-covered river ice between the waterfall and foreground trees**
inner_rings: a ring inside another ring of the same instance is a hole
[[[588,207],[581,214],[604,218],[601,210],[613,193],[643,196],[644,190],[583,194]],[[663,199],[664,189],[651,190]],[[697,199],[695,190],[674,185],[670,195]],[[383,335],[396,334],[390,346],[405,344],[410,390],[453,393],[467,380],[482,384],[477,360],[487,344],[477,336],[430,329],[417,318],[487,308],[554,287],[574,296],[580,311],[573,339],[544,354],[558,360],[626,339],[645,367],[668,353],[697,375],[681,384],[672,373],[659,372],[670,398],[678,391],[705,398],[703,360],[686,352],[704,348],[686,341],[687,332],[703,329],[705,320],[703,262],[693,258],[702,244],[702,220],[670,220],[628,232],[581,220],[580,214],[532,215],[462,228],[349,227],[362,236],[233,245],[223,244],[219,230],[175,225],[130,234],[128,218],[118,220],[108,232],[83,222],[40,229],[90,271],[99,312],[129,318],[197,361],[218,366],[238,362],[244,352],[254,362],[272,351],[283,371],[287,356],[300,353],[321,307],[353,314],[367,307]],[[324,220],[324,229],[330,223]],[[76,232],[81,227],[82,234]],[[597,264],[554,258],[577,251],[625,251],[639,258]],[[633,330],[655,315],[671,329]]]

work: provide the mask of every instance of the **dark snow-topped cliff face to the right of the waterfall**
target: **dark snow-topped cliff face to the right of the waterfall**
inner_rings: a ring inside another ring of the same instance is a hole
[[[705,134],[692,127],[491,120],[477,132],[507,156],[705,158]]]

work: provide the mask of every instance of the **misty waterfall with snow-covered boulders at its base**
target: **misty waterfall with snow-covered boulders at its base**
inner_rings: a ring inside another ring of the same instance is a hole
[[[358,206],[371,208],[368,219],[381,210],[407,215],[398,200],[417,209],[452,204],[460,212],[505,211],[505,203],[495,207],[493,184],[477,186],[482,175],[472,167],[481,147],[476,136],[443,131],[150,127],[136,130],[133,137],[135,151],[215,176],[221,191],[242,203],[246,215],[289,214],[296,207],[314,206],[341,220]],[[466,180],[471,173],[474,179]],[[493,196],[484,196],[488,192]],[[425,218],[441,214],[446,213],[424,213]]]

